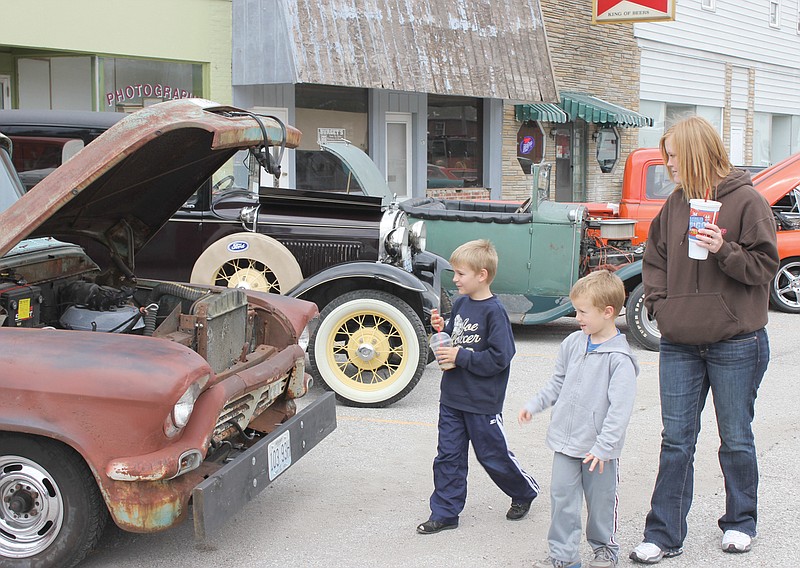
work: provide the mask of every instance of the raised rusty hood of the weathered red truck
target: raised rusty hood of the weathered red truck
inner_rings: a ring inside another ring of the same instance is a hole
[[[259,119],[203,99],[125,117],[0,213],[0,256],[26,237],[90,237],[129,260],[238,150],[282,142],[281,125]],[[300,142],[288,126],[285,137]]]

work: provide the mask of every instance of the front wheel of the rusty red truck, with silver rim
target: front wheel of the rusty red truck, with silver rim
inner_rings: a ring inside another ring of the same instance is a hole
[[[97,545],[107,520],[97,483],[72,449],[0,435],[3,566],[75,566]]]

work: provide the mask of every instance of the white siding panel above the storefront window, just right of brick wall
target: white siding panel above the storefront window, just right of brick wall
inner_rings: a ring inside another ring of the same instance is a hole
[[[642,48],[642,100],[722,107],[725,64]]]

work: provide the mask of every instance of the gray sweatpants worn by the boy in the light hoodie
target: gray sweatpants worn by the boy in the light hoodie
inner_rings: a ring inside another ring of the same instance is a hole
[[[550,478],[550,531],[547,543],[550,557],[565,562],[580,560],[581,514],[586,497],[586,540],[592,550],[606,547],[616,557],[619,545],[617,532],[618,461],[603,464],[589,471],[590,464],[556,452],[553,455],[553,474]]]

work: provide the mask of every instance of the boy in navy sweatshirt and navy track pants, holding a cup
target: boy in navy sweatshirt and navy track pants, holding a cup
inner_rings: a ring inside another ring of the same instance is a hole
[[[453,363],[455,368],[442,374],[431,514],[417,526],[420,534],[458,526],[467,498],[470,441],[489,477],[511,497],[507,519],[523,518],[539,493],[536,481],[508,449],[503,430],[503,401],[516,348],[508,314],[489,290],[497,273],[497,251],[489,241],[470,241],[453,251],[450,264],[460,294],[444,327],[453,346],[440,347],[436,356],[441,364]],[[433,328],[443,324],[442,316],[434,312]]]

